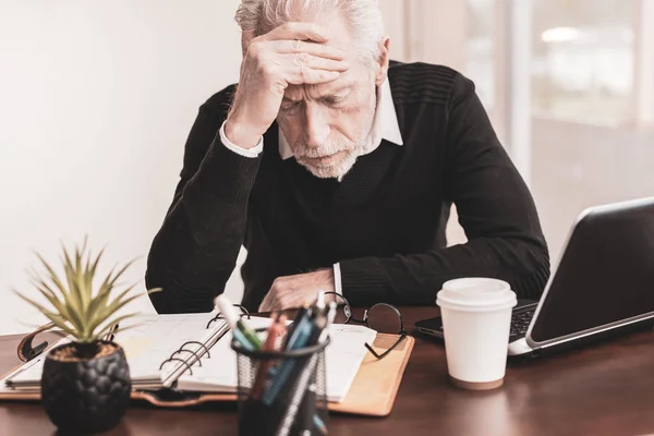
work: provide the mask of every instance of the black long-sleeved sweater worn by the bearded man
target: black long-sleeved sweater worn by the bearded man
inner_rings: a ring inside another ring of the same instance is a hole
[[[342,182],[279,156],[278,125],[258,158],[222,145],[234,86],[209,98],[189,135],[181,180],[148,256],[159,313],[208,312],[243,244],[243,305],[276,277],[340,263],[353,305],[435,304],[444,281],[485,276],[537,299],[549,256],[532,196],[498,142],[471,81],[439,65],[388,72],[403,145],[382,142]],[[446,246],[455,203],[468,242]]]

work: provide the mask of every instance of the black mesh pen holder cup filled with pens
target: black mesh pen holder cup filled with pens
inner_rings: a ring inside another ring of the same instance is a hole
[[[266,329],[255,330],[262,343]],[[275,347],[283,347],[278,339]],[[232,335],[237,352],[239,435],[326,435],[329,428],[325,348],[247,350]]]

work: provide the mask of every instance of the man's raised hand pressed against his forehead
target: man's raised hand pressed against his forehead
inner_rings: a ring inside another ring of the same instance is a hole
[[[286,23],[250,40],[225,124],[228,140],[253,148],[277,118],[289,85],[329,83],[348,70],[344,52],[314,23]]]

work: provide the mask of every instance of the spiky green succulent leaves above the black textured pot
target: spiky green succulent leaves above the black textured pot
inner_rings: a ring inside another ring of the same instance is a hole
[[[114,332],[113,328],[120,323],[138,315],[138,313],[129,313],[116,316],[116,313],[141,296],[140,294],[130,294],[130,291],[137,283],[122,290],[117,296],[111,296],[111,292],[118,287],[118,279],[135,259],[125,264],[118,271],[116,271],[117,266],[114,266],[101,279],[97,292],[94,292],[94,279],[96,279],[97,267],[105,249],[92,258],[90,252],[86,253],[86,242],[87,239],[85,238],[81,249],[75,246],[74,256],[69,255],[68,250],[62,244],[61,261],[65,272],[63,280],[59,278],[44,257],[36,253],[47,272],[43,277],[32,270],[29,278],[51,307],[48,308],[16,292],[23,300],[38,308],[50,320],[51,327],[61,329],[63,334],[72,336],[74,341],[81,344],[100,341],[106,335]],[[159,290],[159,288],[152,289],[148,290],[148,293]]]

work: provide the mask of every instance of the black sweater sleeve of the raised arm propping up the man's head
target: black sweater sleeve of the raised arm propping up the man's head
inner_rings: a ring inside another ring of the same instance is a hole
[[[227,95],[199,108],[172,204],[152,243],[146,286],[162,288],[149,294],[158,313],[210,312],[235,267],[263,154],[249,157],[222,144]]]

